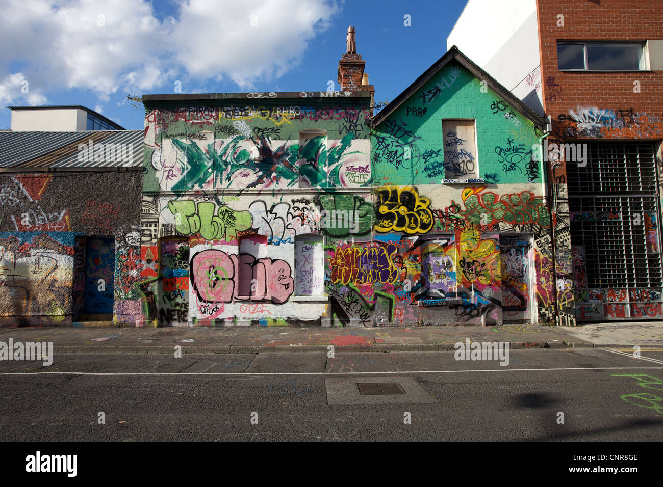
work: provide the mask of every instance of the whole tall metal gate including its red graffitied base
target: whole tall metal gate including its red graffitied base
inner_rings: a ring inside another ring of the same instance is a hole
[[[577,319],[660,316],[654,144],[587,144],[567,181]]]

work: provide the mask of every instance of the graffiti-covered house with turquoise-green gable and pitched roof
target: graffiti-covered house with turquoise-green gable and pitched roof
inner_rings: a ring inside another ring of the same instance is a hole
[[[373,286],[396,323],[552,320],[545,124],[455,46],[373,119],[372,239],[396,271]]]

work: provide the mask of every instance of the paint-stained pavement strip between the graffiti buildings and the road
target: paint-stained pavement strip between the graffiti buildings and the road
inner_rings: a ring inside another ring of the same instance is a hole
[[[54,353],[227,354],[292,351],[453,351],[458,342],[509,342],[511,349],[653,347],[663,349],[663,321],[577,327],[21,327],[1,328],[0,342],[51,342]]]

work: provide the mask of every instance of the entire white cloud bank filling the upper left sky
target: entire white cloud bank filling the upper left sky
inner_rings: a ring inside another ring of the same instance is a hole
[[[248,88],[298,64],[339,10],[336,0],[178,0],[176,18],[159,21],[145,0],[3,4],[1,103],[44,103],[62,89],[90,89],[106,102],[118,92],[170,92],[175,80],[185,92],[225,78]]]

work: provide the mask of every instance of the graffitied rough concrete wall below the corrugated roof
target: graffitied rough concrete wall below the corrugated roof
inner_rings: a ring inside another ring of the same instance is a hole
[[[0,325],[137,319],[141,176],[0,173]]]

